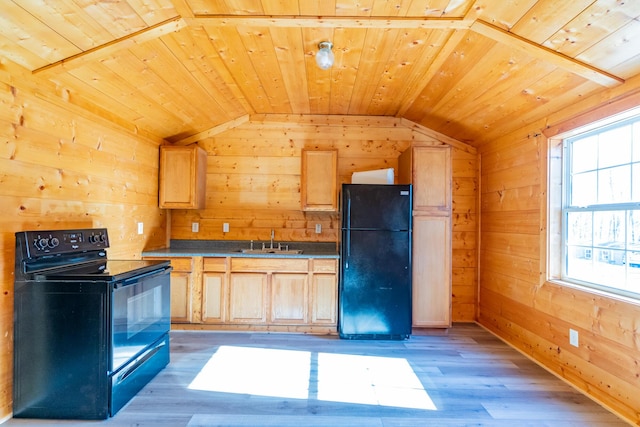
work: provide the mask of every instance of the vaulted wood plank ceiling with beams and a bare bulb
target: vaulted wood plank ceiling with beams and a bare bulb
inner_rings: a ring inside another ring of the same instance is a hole
[[[3,0],[0,61],[169,141],[331,114],[478,145],[640,74],[639,17],[635,0]]]

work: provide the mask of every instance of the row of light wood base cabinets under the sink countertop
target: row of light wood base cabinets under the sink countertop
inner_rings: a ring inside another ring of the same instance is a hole
[[[211,325],[212,328],[235,325],[246,329],[281,326],[302,331],[336,325],[336,259],[162,259],[169,259],[174,268],[171,273],[172,323]]]

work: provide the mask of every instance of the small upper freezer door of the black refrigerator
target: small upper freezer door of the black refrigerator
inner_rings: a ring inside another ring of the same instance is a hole
[[[411,185],[342,185],[342,228],[410,230]]]

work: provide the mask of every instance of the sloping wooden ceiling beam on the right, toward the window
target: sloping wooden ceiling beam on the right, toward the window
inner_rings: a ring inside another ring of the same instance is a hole
[[[577,59],[570,58],[548,47],[533,43],[523,37],[518,36],[512,32],[503,30],[500,27],[489,24],[484,21],[475,21],[471,25],[471,31],[481,34],[485,37],[493,39],[498,43],[503,43],[507,46],[511,46],[514,49],[523,51],[524,53],[539,58],[543,61],[550,62],[557,67],[567,70],[571,73],[584,77],[587,80],[591,80],[602,86],[616,86],[624,83],[624,79],[607,73]]]

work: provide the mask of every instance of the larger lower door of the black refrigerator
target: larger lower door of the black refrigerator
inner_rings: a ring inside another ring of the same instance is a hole
[[[411,334],[411,233],[342,232],[338,332],[348,339]]]

